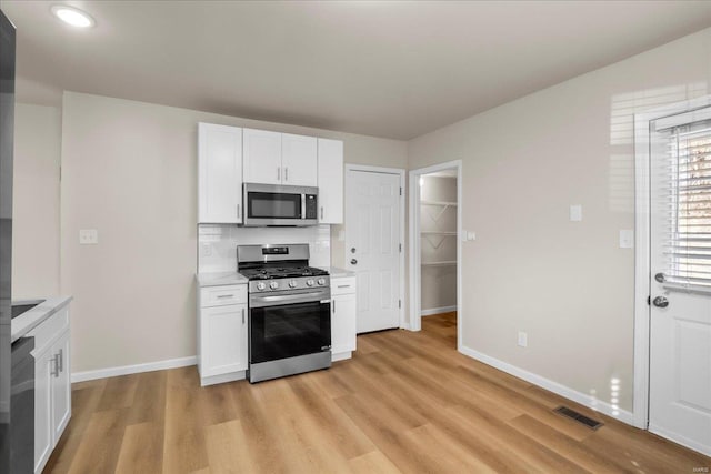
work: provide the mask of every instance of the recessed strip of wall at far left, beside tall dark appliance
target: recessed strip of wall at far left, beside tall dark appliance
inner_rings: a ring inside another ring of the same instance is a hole
[[[59,293],[59,162],[61,112],[14,108],[12,299]]]

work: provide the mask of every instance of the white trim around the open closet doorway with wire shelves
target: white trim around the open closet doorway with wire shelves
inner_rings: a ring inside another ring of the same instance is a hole
[[[447,161],[410,171],[410,330],[422,329],[421,307],[421,239],[420,239],[420,177],[444,170],[457,170],[457,350],[462,346],[462,160]]]

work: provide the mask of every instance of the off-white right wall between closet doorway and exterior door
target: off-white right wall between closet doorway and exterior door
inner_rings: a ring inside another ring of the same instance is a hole
[[[708,93],[710,44],[705,30],[409,142],[412,169],[463,160],[465,349],[608,403],[620,379],[632,409],[632,115]]]

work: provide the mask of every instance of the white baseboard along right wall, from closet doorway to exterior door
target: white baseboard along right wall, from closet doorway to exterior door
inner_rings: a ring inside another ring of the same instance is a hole
[[[494,369],[499,369],[508,374],[517,376],[519,379],[523,379],[527,382],[535,384],[540,387],[543,387],[548,391],[551,391],[560,396],[564,396],[565,399],[572,400],[573,402],[580,403],[581,405],[588,406],[591,410],[594,410],[600,413],[604,413],[608,416],[611,416],[615,420],[621,421],[622,423],[627,423],[629,425],[634,426],[634,416],[631,412],[627,410],[615,409],[607,402],[602,400],[593,399],[588,394],[582,392],[578,392],[569,386],[562,385],[558,382],[553,382],[552,380],[542,377],[533,372],[525,371],[523,369],[517,367],[515,365],[511,365],[507,362],[494,359],[490,355],[482,354],[481,352],[474,351],[471,347],[467,347],[462,345],[459,350],[464,355],[469,355],[472,359],[478,360],[479,362],[483,362],[487,365],[491,365]]]

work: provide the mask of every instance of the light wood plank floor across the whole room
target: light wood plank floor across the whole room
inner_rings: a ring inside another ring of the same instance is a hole
[[[692,473],[711,458],[455,351],[455,315],[328,371],[201,389],[196,367],[73,385],[57,473]],[[551,412],[567,404],[597,432]],[[698,472],[698,471],[697,471]]]

